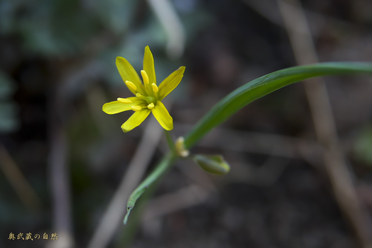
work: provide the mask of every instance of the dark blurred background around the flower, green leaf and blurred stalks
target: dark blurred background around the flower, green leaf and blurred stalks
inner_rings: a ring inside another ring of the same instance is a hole
[[[87,247],[92,240],[151,121],[123,134],[129,113],[102,112],[105,102],[130,94],[116,56],[139,71],[149,45],[158,80],[186,66],[166,103],[174,137],[228,92],[296,65],[276,1],[169,3],[182,23],[184,47],[170,44],[151,1],[0,1],[1,247],[57,244],[7,238],[57,232],[55,202],[64,197],[52,186],[58,161],[67,170],[66,229],[73,238],[59,242]],[[370,1],[301,3],[321,62],[371,61]],[[326,80],[340,146],[370,216],[371,78]],[[144,205],[138,232],[119,228],[110,247],[359,247],[315,140],[301,84],[253,102],[192,150],[223,154],[231,173],[214,177],[191,162],[177,163]],[[165,147],[164,140],[154,145],[147,171]]]

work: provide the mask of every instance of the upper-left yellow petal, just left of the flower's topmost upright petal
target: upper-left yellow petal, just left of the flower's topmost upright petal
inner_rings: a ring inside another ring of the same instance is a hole
[[[116,57],[116,67],[118,67],[118,71],[121,75],[121,78],[123,81],[130,81],[132,82],[136,87],[137,90],[134,90],[133,88],[128,87],[128,89],[133,93],[136,94],[137,92],[140,92],[142,95],[144,94],[144,87],[142,85],[140,76],[138,76],[137,72],[134,70],[133,66],[122,57]]]

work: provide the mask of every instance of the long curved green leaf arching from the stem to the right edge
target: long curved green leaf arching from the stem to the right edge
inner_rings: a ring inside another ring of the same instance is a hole
[[[185,146],[189,149],[212,128],[227,120],[235,112],[250,102],[263,97],[286,85],[316,76],[372,73],[372,63],[364,62],[328,62],[313,65],[295,66],[276,71],[257,78],[235,89],[202,117],[185,136]]]

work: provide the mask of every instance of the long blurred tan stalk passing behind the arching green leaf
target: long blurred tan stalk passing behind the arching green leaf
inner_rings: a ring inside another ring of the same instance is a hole
[[[278,0],[278,5],[298,64],[317,63],[315,46],[301,4],[297,0]],[[336,124],[325,83],[321,78],[307,79],[305,90],[317,139],[327,150],[324,164],[336,200],[362,247],[370,248],[372,247],[371,221],[365,207],[357,198],[352,176],[339,147]]]

